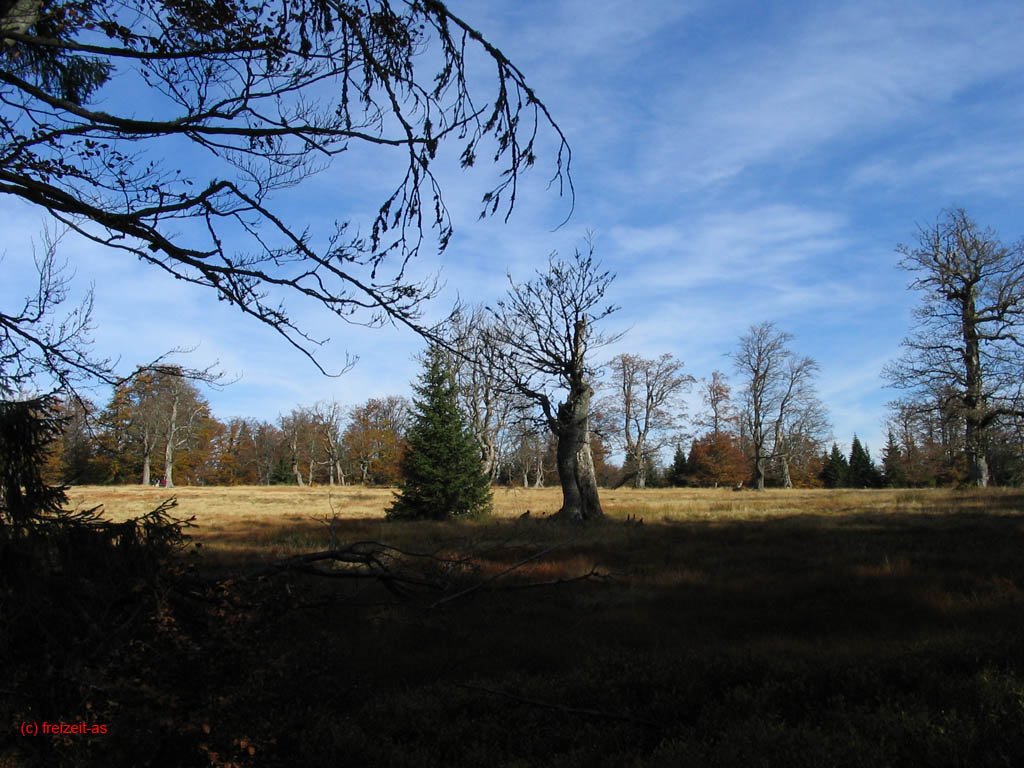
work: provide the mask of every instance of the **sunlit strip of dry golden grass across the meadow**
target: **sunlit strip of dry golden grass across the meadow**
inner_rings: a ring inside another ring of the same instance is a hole
[[[70,507],[102,505],[113,519],[142,515],[165,499],[178,500],[175,515],[196,517],[196,540],[213,551],[245,550],[289,554],[329,542],[328,521],[348,523],[349,529],[388,538],[402,526],[385,526],[391,488],[347,486],[296,487],[255,485],[175,488],[140,485],[76,486],[69,492]],[[1013,488],[801,490],[764,493],[729,488],[605,489],[601,501],[610,521],[638,520],[646,524],[780,520],[795,516],[844,515],[963,515],[970,513],[1024,514],[1024,494]],[[529,512],[543,518],[558,509],[560,490],[496,487],[493,520],[460,523],[472,529],[515,520]],[[415,524],[413,525],[415,527]],[[425,524],[424,530],[438,526]],[[406,526],[404,535],[409,532]],[[404,535],[402,538],[404,538]]]

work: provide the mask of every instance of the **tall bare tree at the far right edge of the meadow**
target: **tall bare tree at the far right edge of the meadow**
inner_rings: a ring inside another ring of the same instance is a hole
[[[898,250],[922,301],[885,375],[909,393],[903,407],[963,425],[968,479],[985,486],[990,433],[1024,417],[1024,243],[1004,245],[957,209]]]

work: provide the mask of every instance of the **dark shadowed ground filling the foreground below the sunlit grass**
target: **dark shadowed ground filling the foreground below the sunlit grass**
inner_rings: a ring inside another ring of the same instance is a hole
[[[259,539],[335,557],[8,590],[0,765],[1020,765],[1022,506],[306,519]]]

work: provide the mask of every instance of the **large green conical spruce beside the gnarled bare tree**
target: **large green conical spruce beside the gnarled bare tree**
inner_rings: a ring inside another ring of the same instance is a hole
[[[445,520],[490,511],[490,480],[476,440],[459,411],[446,353],[431,347],[414,387],[413,425],[401,459],[399,493],[391,520]]]

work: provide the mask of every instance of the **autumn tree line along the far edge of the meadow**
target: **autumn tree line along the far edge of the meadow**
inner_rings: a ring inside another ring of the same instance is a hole
[[[479,312],[457,321],[453,339],[466,345],[474,324],[482,321]],[[848,452],[841,450],[813,389],[817,366],[796,356],[787,347],[791,339],[772,324],[755,326],[742,337],[734,353],[738,398],[725,373],[715,371],[697,381],[670,354],[612,358],[591,413],[598,484],[756,487],[756,430],[765,486],[921,487],[968,481],[964,433],[948,414],[943,420],[942,414],[894,403],[879,462],[856,435]],[[772,378],[757,368],[759,361],[767,366],[771,353],[779,357],[772,362],[774,370],[784,376],[752,392],[752,382]],[[437,365],[447,367],[461,424],[488,481],[557,484],[557,439],[528,403],[481,376],[478,359],[471,364],[455,354],[439,359]],[[746,379],[741,376],[744,366]],[[402,482],[415,416],[414,403],[404,395],[372,397],[350,407],[337,400],[299,406],[273,422],[220,420],[197,383],[179,373],[172,368],[139,374],[116,387],[102,408],[84,398],[67,400],[60,406],[61,429],[46,476],[69,484]],[[687,418],[681,395],[694,385],[700,406]],[[761,413],[754,411],[755,403]],[[1017,435],[1007,431],[1000,437],[989,451],[992,482],[1017,484],[1024,476]],[[674,453],[667,456],[670,450]],[[621,462],[612,459],[616,452]]]

